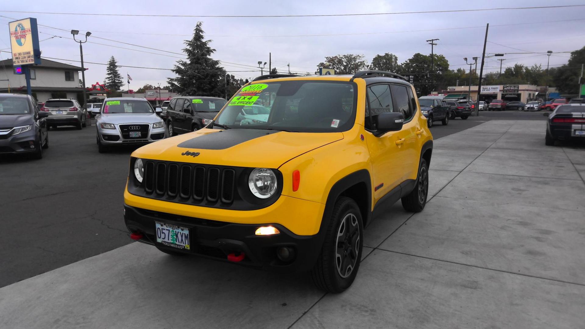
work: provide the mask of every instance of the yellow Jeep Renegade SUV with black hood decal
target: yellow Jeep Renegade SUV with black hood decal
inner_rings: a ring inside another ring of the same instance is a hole
[[[261,76],[206,128],[132,153],[124,218],[160,251],[311,271],[342,292],[374,214],[425,207],[431,152],[398,74]]]

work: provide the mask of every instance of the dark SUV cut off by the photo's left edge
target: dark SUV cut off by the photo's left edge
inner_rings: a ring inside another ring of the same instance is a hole
[[[41,159],[49,147],[47,116],[29,95],[0,94],[0,154],[32,153]]]

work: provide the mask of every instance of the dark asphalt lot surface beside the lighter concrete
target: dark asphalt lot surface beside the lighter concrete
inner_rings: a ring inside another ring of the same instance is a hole
[[[490,119],[544,119],[541,112],[480,112],[442,126],[435,139]],[[132,148],[100,154],[95,126],[49,132],[42,160],[0,158],[0,287],[129,244],[122,193]]]

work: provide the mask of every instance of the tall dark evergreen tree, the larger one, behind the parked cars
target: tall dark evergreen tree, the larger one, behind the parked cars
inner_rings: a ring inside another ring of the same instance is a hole
[[[215,49],[209,47],[212,40],[204,40],[201,24],[197,22],[192,39],[185,40],[187,59],[177,61],[173,69],[177,77],[168,78],[168,84],[181,95],[224,97],[226,72],[210,57]]]

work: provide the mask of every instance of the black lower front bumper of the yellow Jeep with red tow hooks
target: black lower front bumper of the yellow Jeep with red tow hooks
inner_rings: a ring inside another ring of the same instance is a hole
[[[294,211],[294,210],[293,210]],[[246,211],[241,211],[245,213]],[[276,220],[276,218],[274,218]],[[307,220],[296,218],[296,220]],[[132,233],[140,233],[140,242],[154,245],[159,249],[205,256],[228,262],[228,255],[245,255],[240,265],[252,266],[278,272],[307,272],[315,264],[323,243],[323,235],[296,235],[278,223],[241,224],[226,221],[205,220],[198,217],[161,213],[132,207],[124,207],[124,221]],[[190,235],[190,249],[176,249],[156,242],[155,222],[187,227]],[[279,234],[255,235],[260,226],[276,227]],[[288,247],[294,258],[283,261],[277,256],[277,249]]]

